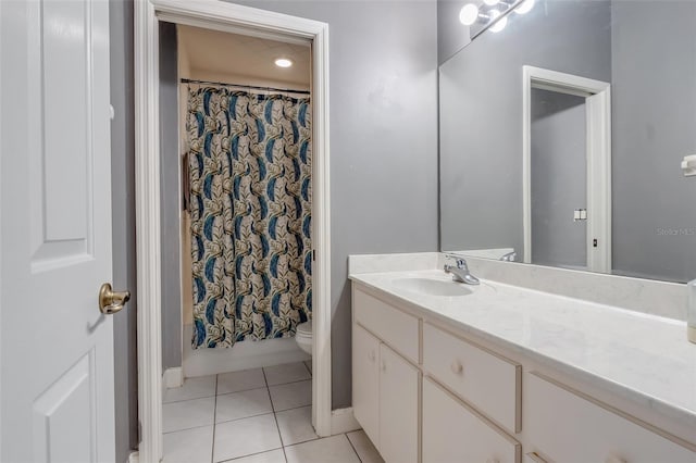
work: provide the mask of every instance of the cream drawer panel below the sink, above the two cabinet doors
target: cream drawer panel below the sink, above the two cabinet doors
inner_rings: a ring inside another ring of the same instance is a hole
[[[394,350],[419,363],[419,321],[377,298],[352,291],[352,310],[356,322],[374,333]]]

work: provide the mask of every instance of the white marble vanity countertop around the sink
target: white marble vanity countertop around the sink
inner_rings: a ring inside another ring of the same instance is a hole
[[[351,273],[395,302],[696,428],[696,345],[686,323],[611,305],[483,280],[463,297],[425,296],[399,278],[451,281],[440,270]]]

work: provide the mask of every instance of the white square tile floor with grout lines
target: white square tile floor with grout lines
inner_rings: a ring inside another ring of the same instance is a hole
[[[382,463],[362,430],[320,439],[309,362],[186,379],[164,393],[164,463]]]

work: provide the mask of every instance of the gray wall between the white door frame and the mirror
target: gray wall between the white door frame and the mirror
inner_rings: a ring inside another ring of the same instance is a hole
[[[348,406],[348,254],[437,249],[436,2],[239,3],[330,26],[332,385]]]

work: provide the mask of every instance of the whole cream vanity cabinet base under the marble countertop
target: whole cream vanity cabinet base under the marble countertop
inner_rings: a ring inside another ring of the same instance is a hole
[[[352,301],[353,412],[387,463],[696,463],[696,433],[378,289]]]

